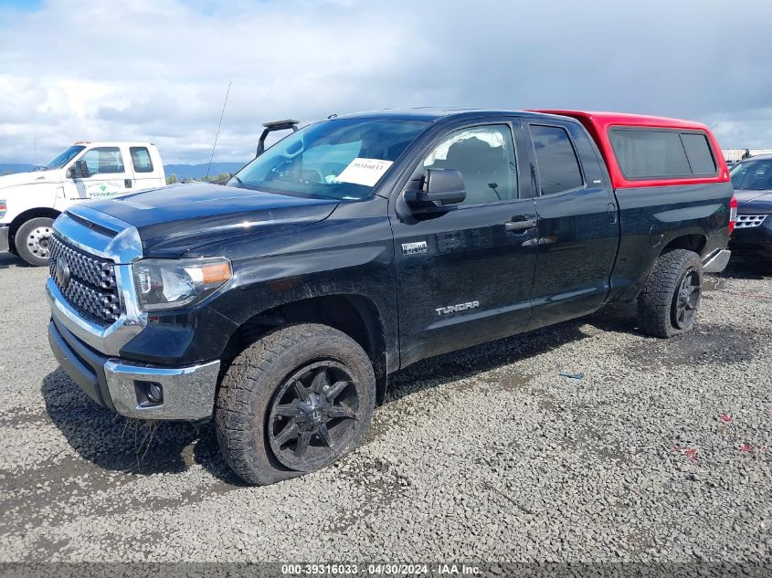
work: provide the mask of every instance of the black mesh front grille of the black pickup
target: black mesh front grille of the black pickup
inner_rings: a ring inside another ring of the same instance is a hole
[[[107,326],[121,315],[112,261],[52,236],[48,271],[64,298],[84,318]]]

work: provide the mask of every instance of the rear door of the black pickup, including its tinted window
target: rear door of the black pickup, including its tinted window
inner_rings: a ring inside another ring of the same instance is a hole
[[[617,205],[587,133],[573,122],[529,121],[538,253],[528,329],[597,310],[619,244]]]

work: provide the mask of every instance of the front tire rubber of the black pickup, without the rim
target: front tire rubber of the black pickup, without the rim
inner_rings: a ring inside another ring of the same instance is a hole
[[[276,397],[287,391],[290,378],[309,364],[326,360],[350,373],[359,400],[358,419],[347,426],[345,447],[335,450],[333,461],[361,443],[375,407],[375,373],[367,354],[348,335],[326,325],[284,327],[241,352],[228,367],[217,392],[217,442],[227,464],[240,478],[263,486],[329,465],[288,468],[272,449],[269,435],[271,408],[280,404]]]

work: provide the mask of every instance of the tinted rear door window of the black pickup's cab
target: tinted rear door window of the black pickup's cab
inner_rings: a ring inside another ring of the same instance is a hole
[[[539,167],[541,194],[561,193],[582,186],[582,171],[566,129],[532,124],[530,131]]]

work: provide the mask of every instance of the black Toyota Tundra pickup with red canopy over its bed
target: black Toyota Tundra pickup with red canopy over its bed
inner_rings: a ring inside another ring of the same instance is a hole
[[[698,123],[382,111],[260,152],[227,185],[69,208],[47,285],[76,384],[130,417],[214,416],[254,484],[355,447],[420,359],[610,301],[688,331],[729,255],[733,188]]]

